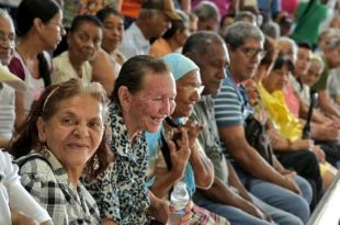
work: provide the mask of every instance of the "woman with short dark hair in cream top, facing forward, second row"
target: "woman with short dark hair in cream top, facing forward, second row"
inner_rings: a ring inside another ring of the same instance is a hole
[[[52,83],[79,77],[84,82],[92,80],[90,60],[98,53],[103,38],[103,25],[93,15],[77,15],[67,34],[68,50],[53,59]]]

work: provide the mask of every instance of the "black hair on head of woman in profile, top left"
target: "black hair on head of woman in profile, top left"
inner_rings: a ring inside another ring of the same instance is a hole
[[[22,0],[16,12],[18,36],[24,36],[31,30],[34,19],[47,23],[60,10],[55,0]]]

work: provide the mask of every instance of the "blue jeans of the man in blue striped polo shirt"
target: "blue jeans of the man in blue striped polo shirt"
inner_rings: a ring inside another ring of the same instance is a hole
[[[296,177],[297,184],[303,193],[298,195],[287,189],[245,173],[239,168],[237,168],[237,173],[243,183],[247,180],[246,187],[250,193],[269,205],[296,215],[304,224],[307,223],[310,215],[308,202],[311,200],[313,192],[310,184],[304,178],[299,176]]]

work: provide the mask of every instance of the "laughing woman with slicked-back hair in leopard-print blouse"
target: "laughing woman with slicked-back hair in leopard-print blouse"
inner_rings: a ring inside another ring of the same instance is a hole
[[[109,109],[110,147],[115,160],[87,185],[102,218],[120,225],[144,225],[150,214],[167,222],[168,204],[154,196],[145,183],[148,168],[145,132],[158,131],[174,109],[174,80],[162,60],[143,55],[123,65]],[[182,143],[188,144],[186,134]],[[191,217],[189,207],[183,223]]]

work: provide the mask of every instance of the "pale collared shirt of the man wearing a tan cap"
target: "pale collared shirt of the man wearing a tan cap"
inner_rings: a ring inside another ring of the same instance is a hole
[[[150,52],[150,42],[146,40],[136,23],[133,23],[125,32],[120,50],[126,58],[136,55],[148,55]]]

